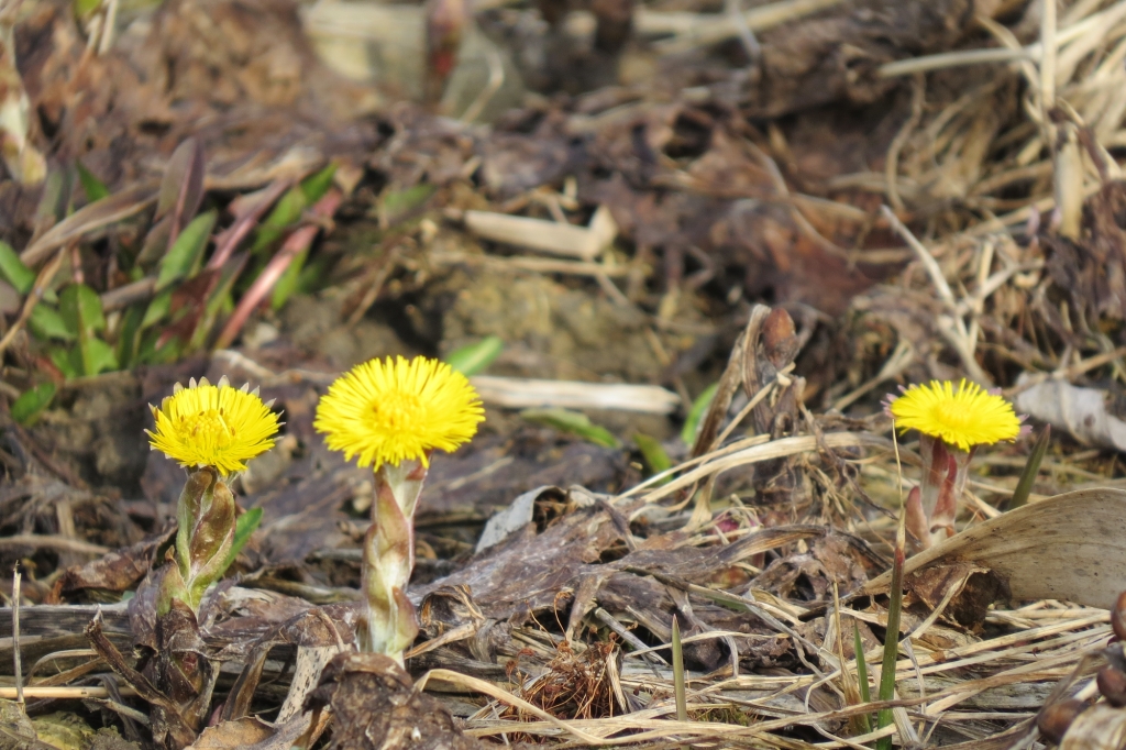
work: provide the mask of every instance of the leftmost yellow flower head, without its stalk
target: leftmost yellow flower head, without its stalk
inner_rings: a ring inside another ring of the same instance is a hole
[[[224,476],[247,468],[247,462],[274,447],[278,418],[249,385],[233,389],[226,377],[212,385],[195,378],[179,383],[160,409],[152,404],[157,431],[149,432],[153,450],[181,466],[214,466]],[[270,402],[272,403],[272,402]]]

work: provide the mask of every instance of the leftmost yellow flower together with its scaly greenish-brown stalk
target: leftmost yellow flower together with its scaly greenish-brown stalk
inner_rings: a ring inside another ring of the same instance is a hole
[[[188,387],[177,383],[172,395],[152,409],[155,431],[149,431],[153,450],[188,470],[176,517],[176,565],[164,572],[158,613],[179,599],[191,611],[212,583],[226,572],[234,550],[235,505],[227,480],[248,461],[274,446],[279,422],[258,391],[218,385],[207,378]],[[146,430],[148,431],[148,430]]]

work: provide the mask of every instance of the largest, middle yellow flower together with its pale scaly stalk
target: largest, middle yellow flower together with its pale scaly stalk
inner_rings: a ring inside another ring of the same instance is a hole
[[[406,584],[414,569],[414,510],[435,449],[455,450],[484,419],[464,375],[435,359],[373,359],[329,386],[313,427],[325,444],[374,466],[372,526],[364,536],[361,651],[403,663],[418,634]]]

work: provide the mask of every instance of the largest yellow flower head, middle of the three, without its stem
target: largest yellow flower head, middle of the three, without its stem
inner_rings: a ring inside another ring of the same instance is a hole
[[[449,365],[415,357],[373,359],[337,378],[316,407],[313,427],[333,450],[360,466],[429,465],[434,448],[454,450],[477,431],[484,409],[468,380]]]

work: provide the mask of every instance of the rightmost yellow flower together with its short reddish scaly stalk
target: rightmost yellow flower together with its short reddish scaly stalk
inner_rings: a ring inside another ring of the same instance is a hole
[[[955,533],[958,498],[966,488],[969,461],[980,445],[1015,440],[1020,419],[1000,395],[963,380],[912,385],[887,404],[902,431],[920,432],[922,483],[906,500],[906,529],[919,550]]]

